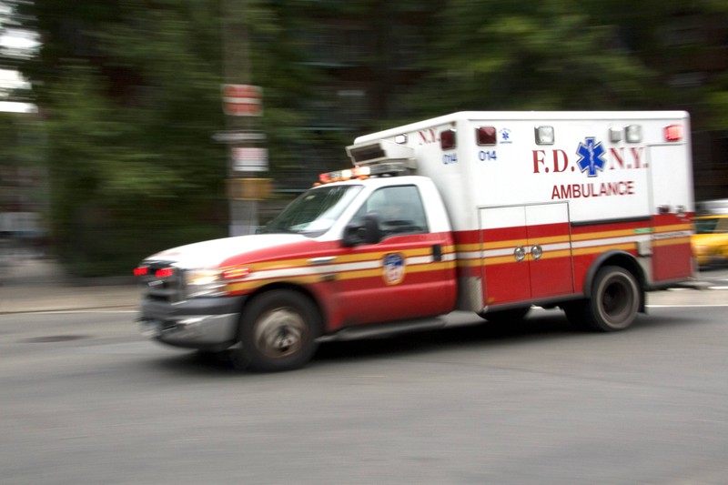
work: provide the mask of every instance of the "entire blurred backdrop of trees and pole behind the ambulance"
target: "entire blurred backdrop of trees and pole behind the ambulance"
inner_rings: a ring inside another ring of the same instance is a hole
[[[128,275],[265,223],[355,136],[458,110],[685,109],[695,198],[726,198],[726,68],[724,0],[0,0],[0,259]]]

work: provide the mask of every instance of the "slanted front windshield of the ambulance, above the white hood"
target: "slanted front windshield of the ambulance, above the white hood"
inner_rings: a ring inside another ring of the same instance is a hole
[[[262,232],[293,232],[318,237],[333,226],[360,190],[361,186],[354,185],[312,188],[283,209]]]

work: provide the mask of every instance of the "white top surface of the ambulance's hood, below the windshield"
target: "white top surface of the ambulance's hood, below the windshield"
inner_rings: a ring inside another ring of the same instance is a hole
[[[217,268],[227,258],[259,249],[275,248],[306,240],[308,240],[308,237],[299,234],[255,234],[251,236],[224,237],[166,249],[146,258],[146,260],[164,261],[178,268]]]

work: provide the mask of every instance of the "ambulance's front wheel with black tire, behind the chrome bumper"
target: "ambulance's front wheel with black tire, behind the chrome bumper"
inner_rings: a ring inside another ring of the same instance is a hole
[[[319,311],[308,297],[288,289],[268,291],[243,310],[237,358],[253,370],[298,369],[316,352],[320,328]]]

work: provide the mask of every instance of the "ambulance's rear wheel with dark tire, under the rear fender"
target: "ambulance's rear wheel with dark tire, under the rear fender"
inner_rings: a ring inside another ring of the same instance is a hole
[[[642,301],[642,290],[632,273],[622,267],[601,268],[591,287],[591,298],[564,308],[573,323],[602,332],[623,330],[632,325]]]

